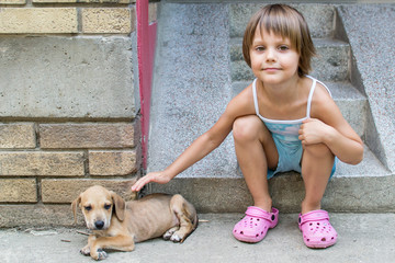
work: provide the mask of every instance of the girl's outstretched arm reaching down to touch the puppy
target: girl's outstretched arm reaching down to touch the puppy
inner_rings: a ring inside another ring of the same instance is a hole
[[[253,113],[251,108],[252,95],[246,89],[239,95],[234,98],[227,105],[224,114],[206,133],[195,139],[168,168],[159,172],[150,172],[140,178],[133,186],[132,191],[139,191],[145,184],[156,182],[160,184],[168,183],[176,175],[203,159],[215,148],[217,148],[232,132],[235,119],[242,115]]]

